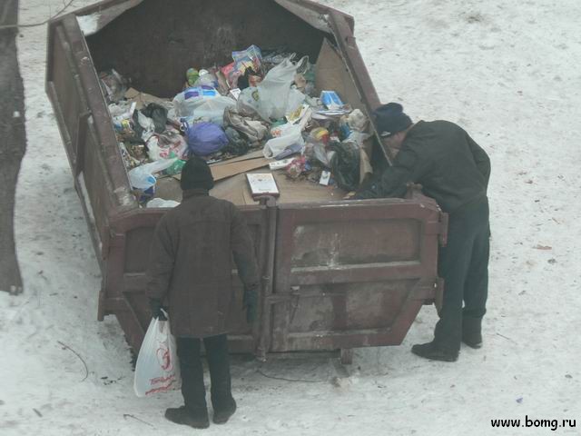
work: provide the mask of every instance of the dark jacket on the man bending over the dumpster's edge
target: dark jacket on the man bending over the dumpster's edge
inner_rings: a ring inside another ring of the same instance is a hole
[[[357,199],[402,197],[419,183],[444,212],[485,199],[490,160],[457,124],[419,121],[408,132],[394,163],[379,179],[362,186]]]

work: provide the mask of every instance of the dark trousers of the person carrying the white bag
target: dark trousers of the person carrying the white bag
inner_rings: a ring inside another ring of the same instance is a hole
[[[183,401],[185,407],[192,411],[206,409],[201,343],[202,340],[198,338],[177,338]],[[226,335],[203,338],[203,345],[210,368],[212,407],[214,411],[228,409],[234,400],[231,394],[230,356]]]

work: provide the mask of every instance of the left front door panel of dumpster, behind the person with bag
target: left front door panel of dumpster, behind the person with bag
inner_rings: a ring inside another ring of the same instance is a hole
[[[251,207],[241,212],[248,222],[259,268],[263,272],[267,257],[266,210],[263,207]],[[140,213],[124,215],[112,224],[113,239],[107,258],[103,312],[114,313],[117,316],[135,352],[139,351],[143,334],[151,320],[145,295],[146,271],[153,230],[162,213],[164,213],[162,209],[142,210]],[[234,298],[228,321],[231,351],[254,352],[258,342],[258,328],[246,322],[242,309],[243,286],[233,261],[232,289]]]

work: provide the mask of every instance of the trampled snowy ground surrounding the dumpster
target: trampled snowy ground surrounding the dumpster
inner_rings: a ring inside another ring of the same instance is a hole
[[[21,0],[21,21],[61,0]],[[76,0],[75,7],[87,5]],[[485,348],[457,363],[420,360],[426,307],[400,347],[356,352],[341,386],[326,361],[233,365],[239,411],[207,434],[549,434],[491,419],[576,419],[581,434],[581,3],[578,0],[327,0],[356,19],[384,102],[414,119],[463,125],[492,159]],[[49,9],[50,6],[50,9]],[[137,399],[113,318],[97,322],[101,277],[44,94],[45,28],[23,29],[28,151],[17,188],[25,294],[0,292],[0,434],[191,434],[164,421],[180,394]],[[540,249],[540,247],[551,247]],[[83,356],[88,369],[67,349]]]

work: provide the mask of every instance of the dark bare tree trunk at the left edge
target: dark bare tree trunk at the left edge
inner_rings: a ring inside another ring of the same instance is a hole
[[[0,26],[16,25],[18,0],[0,2]],[[15,250],[15,188],[26,150],[25,90],[16,56],[17,28],[0,28],[0,291],[22,292]]]

